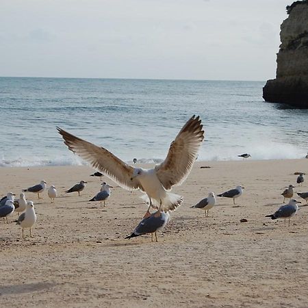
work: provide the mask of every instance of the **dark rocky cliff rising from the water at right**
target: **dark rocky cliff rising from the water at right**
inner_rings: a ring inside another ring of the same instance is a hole
[[[263,98],[308,108],[308,1],[294,2],[287,13],[281,25],[276,79],[266,82]]]

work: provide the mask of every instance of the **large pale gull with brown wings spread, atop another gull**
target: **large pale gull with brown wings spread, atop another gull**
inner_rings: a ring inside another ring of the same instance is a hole
[[[133,168],[107,149],[77,138],[57,127],[70,151],[86,159],[94,168],[127,190],[142,190],[149,197],[149,208],[170,211],[181,205],[183,198],[169,191],[188,177],[204,139],[199,116],[192,116],[170,144],[162,164],[153,169]]]

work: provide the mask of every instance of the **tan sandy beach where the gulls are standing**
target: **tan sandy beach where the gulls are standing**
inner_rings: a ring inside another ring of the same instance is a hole
[[[201,168],[209,166],[211,168]],[[1,307],[307,307],[308,207],[302,202],[290,227],[270,220],[283,204],[294,172],[308,173],[308,159],[196,162],[185,183],[172,190],[184,198],[159,232],[131,240],[146,206],[140,192],[113,185],[106,207],[88,200],[100,189],[87,166],[0,168],[0,193],[47,181],[57,188],[34,201],[33,238],[9,218],[0,221]],[[81,196],[64,191],[84,180]],[[236,199],[217,198],[209,211],[190,207],[208,192],[244,185]],[[246,218],[247,222],[240,222]]]

